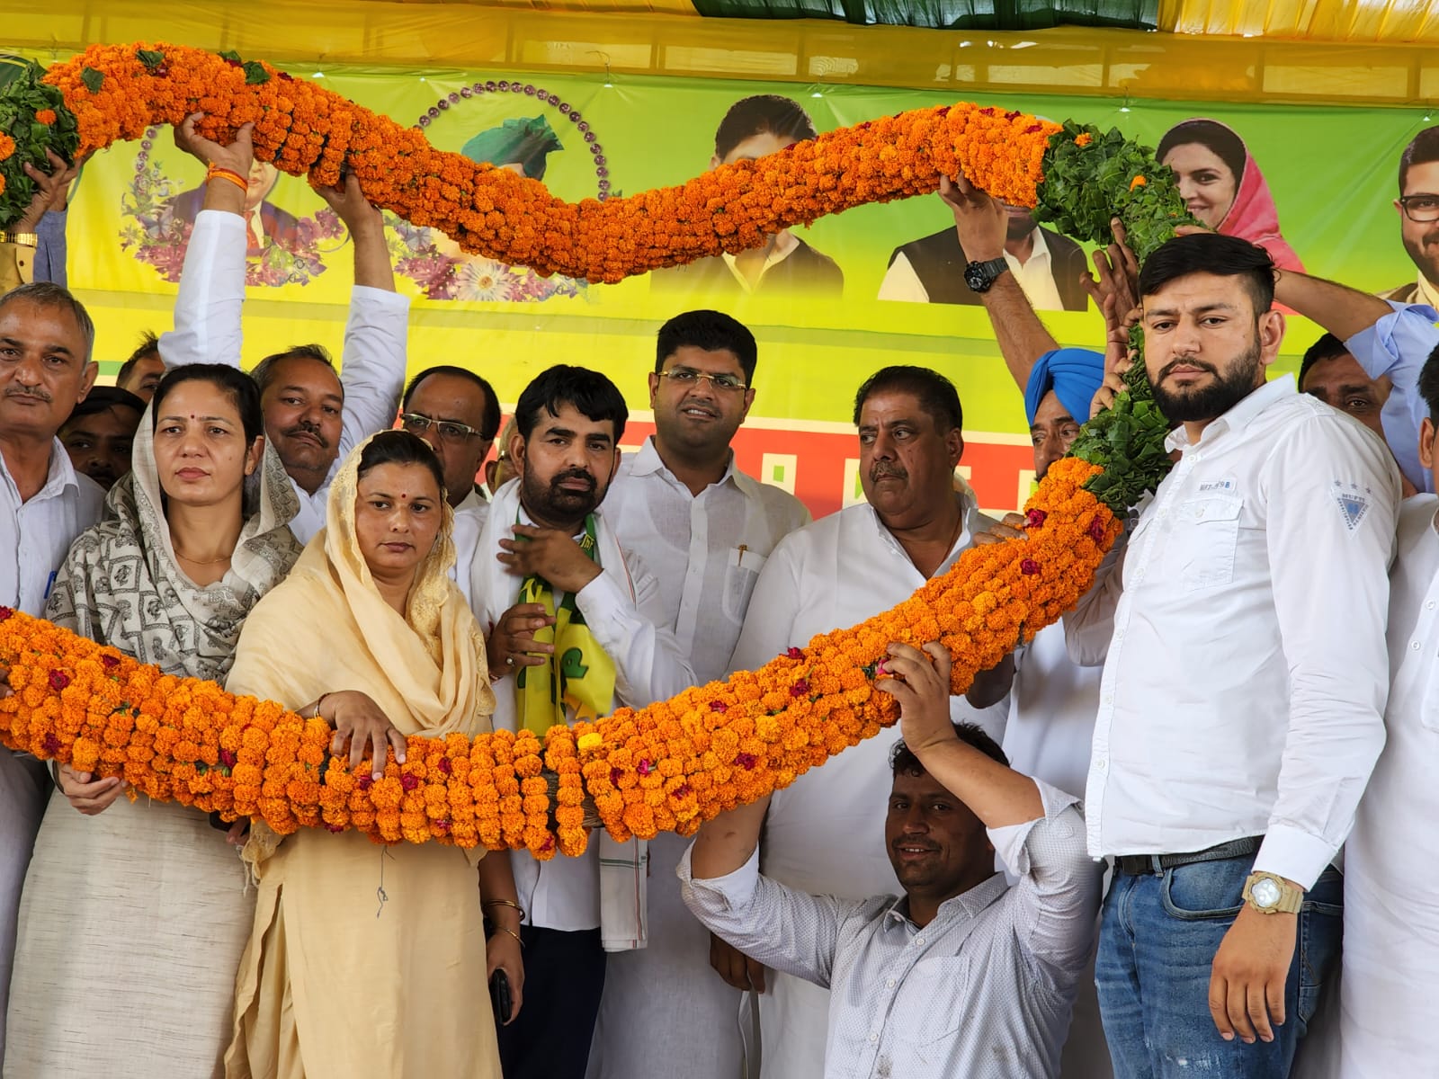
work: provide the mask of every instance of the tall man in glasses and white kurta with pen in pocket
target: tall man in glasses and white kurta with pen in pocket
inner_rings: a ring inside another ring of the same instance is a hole
[[[757,358],[754,335],[730,315],[686,311],[665,322],[649,375],[655,434],[620,462],[604,499],[620,547],[656,575],[663,624],[698,682],[724,678],[760,568],[810,519],[797,498],[734,463],[730,442],[754,403]],[[649,843],[649,945],[610,957],[590,1057],[597,1079],[645,1075],[655,1060],[686,1079],[741,1073],[748,984],[727,985],[709,970],[711,935],[675,878],[688,846],[673,833]]]

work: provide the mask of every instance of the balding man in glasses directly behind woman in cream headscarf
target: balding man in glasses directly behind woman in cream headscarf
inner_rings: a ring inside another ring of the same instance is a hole
[[[455,509],[485,505],[475,476],[499,430],[499,399],[489,383],[463,367],[427,367],[404,388],[400,426],[430,443]]]

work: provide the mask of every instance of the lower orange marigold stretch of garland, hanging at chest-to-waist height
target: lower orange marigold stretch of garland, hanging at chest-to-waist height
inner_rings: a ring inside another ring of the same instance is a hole
[[[406,762],[391,757],[384,778],[371,780],[368,762],[351,773],[332,761],[322,719],[161,675],[7,609],[0,663],[14,693],[0,701],[0,741],[119,775],[151,798],[262,819],[279,834],[358,829],[384,843],[578,855],[586,796],[616,839],[688,834],[894,724],[894,699],[873,689],[889,642],[943,642],[961,693],[976,672],[1072,607],[1120,532],[1084,489],[1097,472],[1076,457],[1053,465],[1026,508],[1027,542],[966,551],[884,614],[728,682],[553,727],[543,742],[528,731],[413,737]],[[554,806],[547,771],[557,777]]]

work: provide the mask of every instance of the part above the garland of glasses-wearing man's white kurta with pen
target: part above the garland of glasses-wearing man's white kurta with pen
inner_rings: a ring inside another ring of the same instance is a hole
[[[718,483],[691,495],[649,437],[620,462],[604,495],[604,519],[620,547],[637,551],[655,574],[666,624],[695,676],[711,682],[730,669],[770,551],[810,515],[789,492],[735,469],[732,459]]]

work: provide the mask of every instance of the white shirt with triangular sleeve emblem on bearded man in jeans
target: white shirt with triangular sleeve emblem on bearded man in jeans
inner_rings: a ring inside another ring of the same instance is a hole
[[[1170,443],[1183,456],[1117,571],[1065,617],[1078,660],[1108,650],[1089,853],[1263,834],[1255,869],[1309,888],[1384,744],[1399,470],[1357,420],[1295,393],[1292,375],[1197,443],[1183,427]]]

